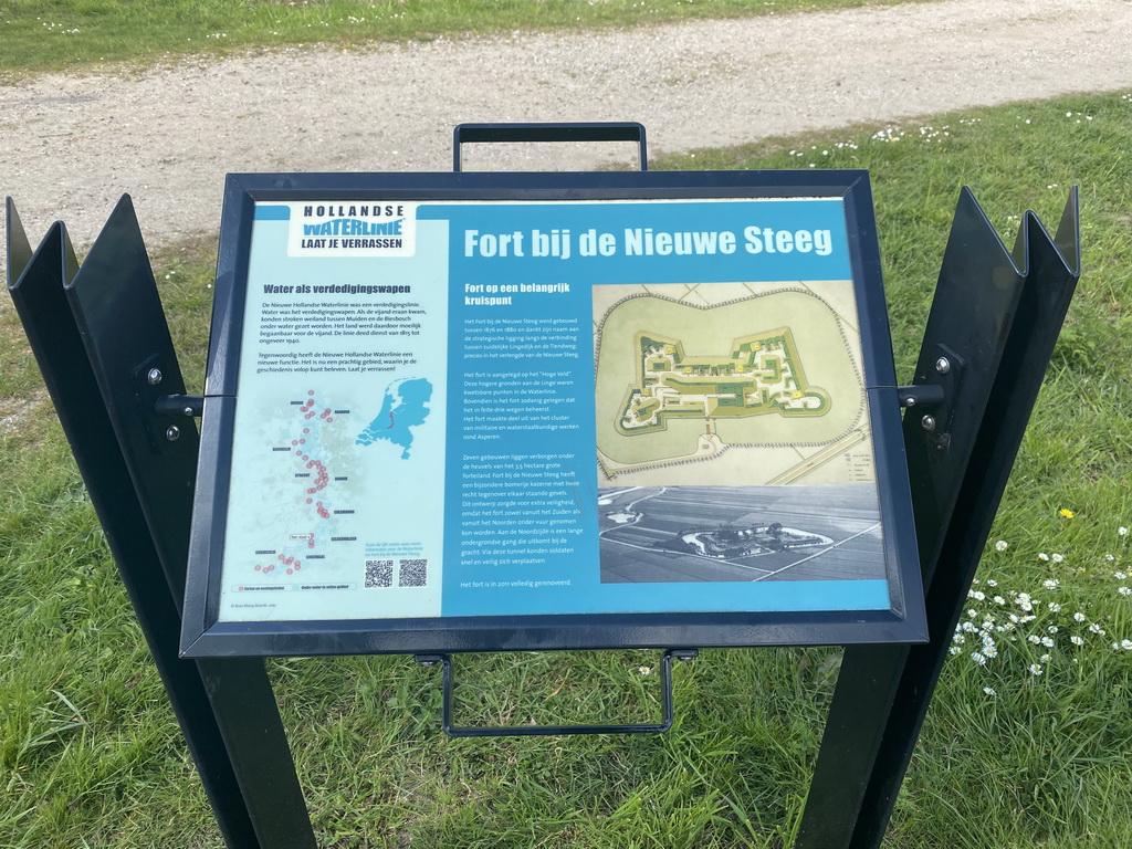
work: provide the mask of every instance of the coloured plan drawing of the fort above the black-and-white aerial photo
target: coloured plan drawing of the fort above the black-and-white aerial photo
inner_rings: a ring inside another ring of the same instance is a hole
[[[851,282],[593,290],[606,486],[874,480]]]

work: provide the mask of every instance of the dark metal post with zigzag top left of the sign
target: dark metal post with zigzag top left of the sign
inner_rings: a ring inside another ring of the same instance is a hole
[[[263,662],[178,658],[196,430],[129,441],[145,421],[132,371],[157,357],[165,387],[180,385],[132,208],[119,204],[82,272],[61,223],[32,255],[10,198],[7,211],[12,300],[221,833],[232,849],[314,847]]]

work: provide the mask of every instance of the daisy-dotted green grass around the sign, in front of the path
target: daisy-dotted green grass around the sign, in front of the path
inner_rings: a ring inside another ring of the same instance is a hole
[[[967,617],[975,628],[995,617],[995,657],[972,662],[981,642],[963,634],[889,844],[1130,846],[1132,651],[1112,643],[1132,638],[1132,597],[1118,591],[1132,578],[1114,575],[1132,571],[1132,534],[1118,533],[1132,525],[1132,94],[901,128],[698,151],[655,166],[871,169],[904,380],[960,186],[972,186],[1012,245],[1023,209],[1054,224],[1069,187],[1081,185],[1084,275],[972,588],[984,595]],[[198,387],[212,261],[200,243],[155,259]],[[0,846],[217,847],[67,446],[36,402],[40,381],[9,308],[0,334],[0,417],[19,420],[0,428]],[[1005,550],[993,546],[998,539]],[[1056,589],[1043,585],[1054,578]],[[1028,615],[1020,602],[1035,620],[1010,621]],[[792,839],[839,657],[706,651],[675,670],[668,735],[501,741],[445,738],[439,672],[406,658],[268,667],[323,846],[730,849]],[[641,652],[461,658],[456,719],[654,719],[655,672],[640,667],[655,663]]]

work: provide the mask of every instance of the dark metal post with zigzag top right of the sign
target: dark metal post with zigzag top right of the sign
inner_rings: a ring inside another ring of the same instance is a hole
[[[931,642],[846,650],[799,849],[884,837],[1080,275],[1077,203],[1074,189],[1056,245],[1027,213],[1012,258],[960,197],[915,380],[949,383],[946,401],[907,409],[903,427]]]

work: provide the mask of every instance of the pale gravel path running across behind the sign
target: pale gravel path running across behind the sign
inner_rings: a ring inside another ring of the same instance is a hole
[[[1130,54],[1132,0],[953,0],[50,76],[0,87],[0,195],[33,240],[63,218],[82,247],[126,191],[156,245],[215,232],[226,172],[444,171],[461,121],[638,120],[674,152],[1125,88]]]

